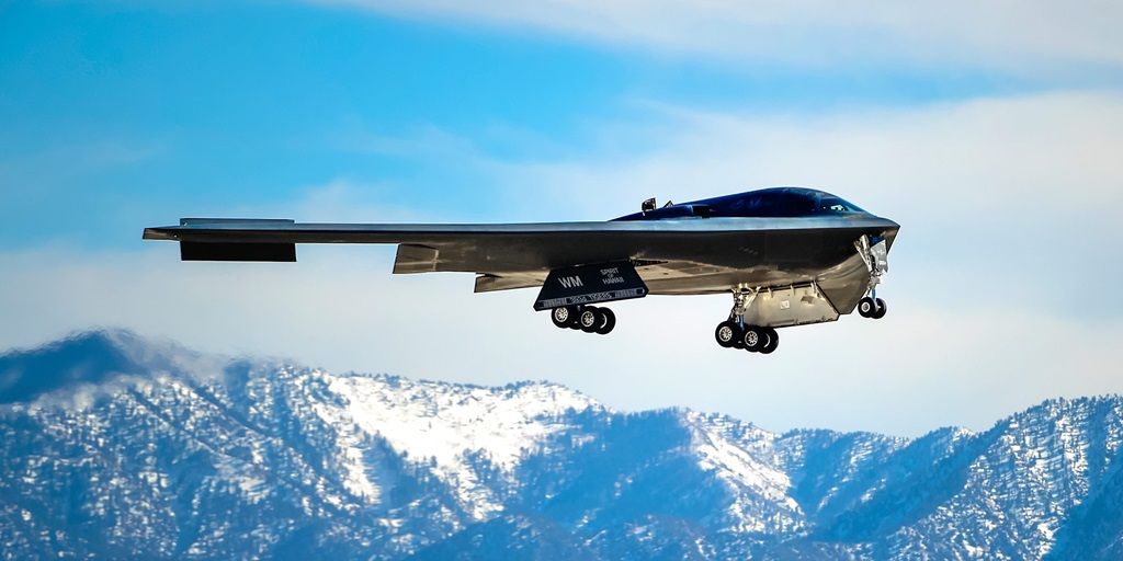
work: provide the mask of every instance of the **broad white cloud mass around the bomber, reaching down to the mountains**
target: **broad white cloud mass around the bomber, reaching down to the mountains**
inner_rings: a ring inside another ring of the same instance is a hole
[[[1123,153],[1121,96],[814,118],[664,108],[638,130],[652,127],[663,144],[642,154],[478,166],[509,187],[504,204],[549,208],[553,219],[610,218],[652,194],[682,201],[769,184],[836,192],[902,223],[883,291],[889,315],[783,330],[779,351],[761,357],[713,342],[727,297],[619,303],[617,330],[593,337],[532,312],[533,291],[473,295],[471,275],[392,276],[392,248],[302,246],[295,265],[184,264],[173,243],[150,242],[139,254],[0,255],[0,344],[124,325],[332,370],[546,378],[619,408],[679,405],[772,430],[905,435],[985,429],[1048,397],[1121,390],[1113,279],[1123,166],[1112,157]],[[636,134],[620,123],[603,130],[610,144]],[[309,187],[274,214],[414,218],[378,204],[378,188]]]

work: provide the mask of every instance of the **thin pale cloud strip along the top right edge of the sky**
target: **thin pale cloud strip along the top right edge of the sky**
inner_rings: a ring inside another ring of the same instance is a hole
[[[1119,65],[1123,6],[1078,2],[519,2],[311,0],[405,17],[547,30],[668,54],[812,66],[853,62],[1002,67],[1015,73]]]

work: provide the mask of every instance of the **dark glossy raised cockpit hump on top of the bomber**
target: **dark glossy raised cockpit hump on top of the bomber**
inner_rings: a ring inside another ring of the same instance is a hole
[[[791,218],[866,212],[838,196],[803,187],[772,187],[736,195],[670,204],[620,217],[617,220],[664,220],[672,218]]]

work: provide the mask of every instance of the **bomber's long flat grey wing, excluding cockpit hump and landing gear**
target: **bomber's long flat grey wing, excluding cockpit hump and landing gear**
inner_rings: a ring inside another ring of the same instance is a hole
[[[884,236],[897,224],[868,214],[526,224],[332,224],[293,220],[183,219],[144,239],[179,241],[183,260],[293,261],[296,243],[396,243],[394,273],[476,273],[476,292],[540,285],[550,270],[654,261],[663,276],[837,263],[822,238]],[[649,265],[649,267],[652,265]],[[674,272],[674,274],[673,274]]]

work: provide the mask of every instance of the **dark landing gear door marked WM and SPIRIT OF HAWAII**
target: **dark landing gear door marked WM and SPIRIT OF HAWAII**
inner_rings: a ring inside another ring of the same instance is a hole
[[[535,310],[642,298],[647,293],[647,285],[630,261],[582,265],[551,270]]]

